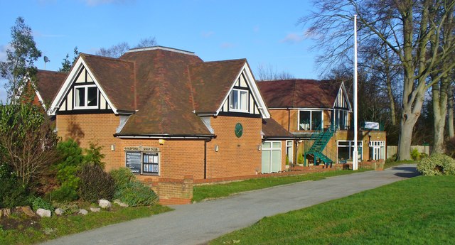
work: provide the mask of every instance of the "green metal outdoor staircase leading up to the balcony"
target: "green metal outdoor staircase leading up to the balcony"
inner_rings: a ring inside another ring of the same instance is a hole
[[[324,131],[321,129],[321,126],[316,129],[316,131],[311,134],[310,140],[313,140],[314,143],[305,153],[304,156],[304,163],[306,165],[306,156],[308,155],[313,155],[314,156],[314,163],[316,164],[316,161],[320,159],[324,164],[326,165],[331,165],[333,163],[333,160],[331,158],[328,158],[328,156],[324,155],[322,151],[324,148],[326,148],[328,141],[332,138],[333,134],[335,134],[336,128],[335,127],[330,127]]]

